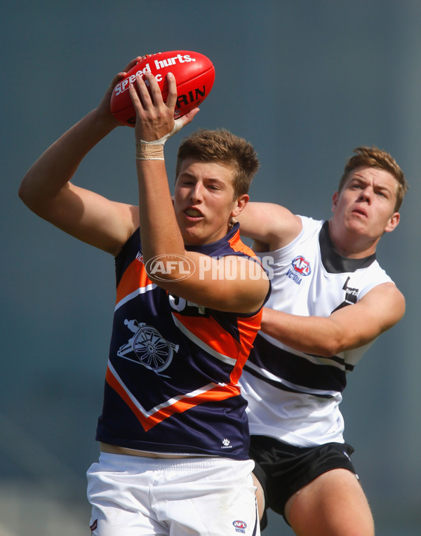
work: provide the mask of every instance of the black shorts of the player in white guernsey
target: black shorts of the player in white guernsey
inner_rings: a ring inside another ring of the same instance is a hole
[[[260,529],[267,526],[268,508],[285,519],[288,499],[321,474],[332,469],[348,469],[356,474],[350,457],[353,452],[354,448],[348,443],[297,447],[272,437],[251,436],[250,457],[255,460],[253,473],[265,493],[265,513]]]

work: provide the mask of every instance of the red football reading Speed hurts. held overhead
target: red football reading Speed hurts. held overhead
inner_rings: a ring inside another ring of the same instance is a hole
[[[116,84],[111,96],[111,112],[128,126],[135,126],[136,114],[128,92],[136,76],[152,73],[159,84],[163,100],[168,95],[166,75],[172,72],[177,82],[177,104],[174,118],[181,117],[199,106],[209,95],[215,80],[213,63],[203,54],[191,51],[159,52],[147,55]]]

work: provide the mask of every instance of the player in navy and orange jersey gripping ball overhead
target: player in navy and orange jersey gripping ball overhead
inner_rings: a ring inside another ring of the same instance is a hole
[[[88,470],[91,533],[258,535],[238,380],[269,281],[232,221],[258,169],[253,147],[225,130],[189,136],[178,153],[173,203],[163,143],[197,109],[175,122],[174,76],[163,102],[145,74],[151,94],[141,78],[129,90],[138,206],[70,182],[83,157],[119,126],[109,110],[112,88],[139,59],[39,157],[20,187],[37,215],[115,257],[101,453]]]

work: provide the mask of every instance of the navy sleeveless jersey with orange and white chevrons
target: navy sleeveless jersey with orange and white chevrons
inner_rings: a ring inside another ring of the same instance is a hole
[[[241,242],[238,224],[220,241],[194,250],[259,262]],[[247,459],[246,402],[238,380],[262,310],[216,311],[169,294],[147,276],[139,232],[116,257],[116,286],[97,440],[156,453]]]

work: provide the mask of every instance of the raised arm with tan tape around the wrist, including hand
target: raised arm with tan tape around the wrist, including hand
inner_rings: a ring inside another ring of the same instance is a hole
[[[149,95],[146,84],[151,88],[152,96]],[[140,151],[136,166],[139,182],[140,236],[143,260],[147,264],[148,261],[159,255],[166,255],[169,260],[180,258],[181,255],[196,267],[194,273],[187,279],[180,277],[181,274],[176,266],[168,274],[160,274],[159,279],[154,279],[153,274],[149,274],[149,276],[159,286],[186,300],[201,304],[203,307],[237,312],[256,311],[265,300],[269,288],[265,273],[259,267],[258,271],[260,271],[261,277],[252,279],[252,270],[240,266],[244,259],[229,257],[238,267],[239,277],[232,279],[222,276],[218,277],[218,281],[213,279],[215,273],[218,275],[227,273],[222,265],[228,262],[228,257],[216,260],[207,255],[185,249],[168,187],[163,150],[161,155],[159,152],[151,154],[152,146],[141,142],[141,140],[158,140],[173,130],[173,114],[177,98],[174,77],[168,76],[166,102],[163,102],[161,91],[154,77],[150,74],[145,74],[144,78],[139,77],[135,86],[131,86],[129,91],[131,91],[131,98],[136,109],[135,138],[138,151]],[[194,109],[182,117],[182,123],[186,124],[192,121],[196,112],[198,109]],[[215,215],[215,217],[218,216]],[[203,263],[203,261],[206,262]],[[207,262],[209,264],[206,264]],[[253,261],[246,260],[246,262],[252,263]],[[200,269],[204,264],[207,267],[206,271]],[[218,270],[218,268],[221,269]],[[231,266],[229,274],[231,275],[232,272]],[[253,272],[255,274],[254,269]],[[240,277],[241,274],[244,274],[243,279]]]

